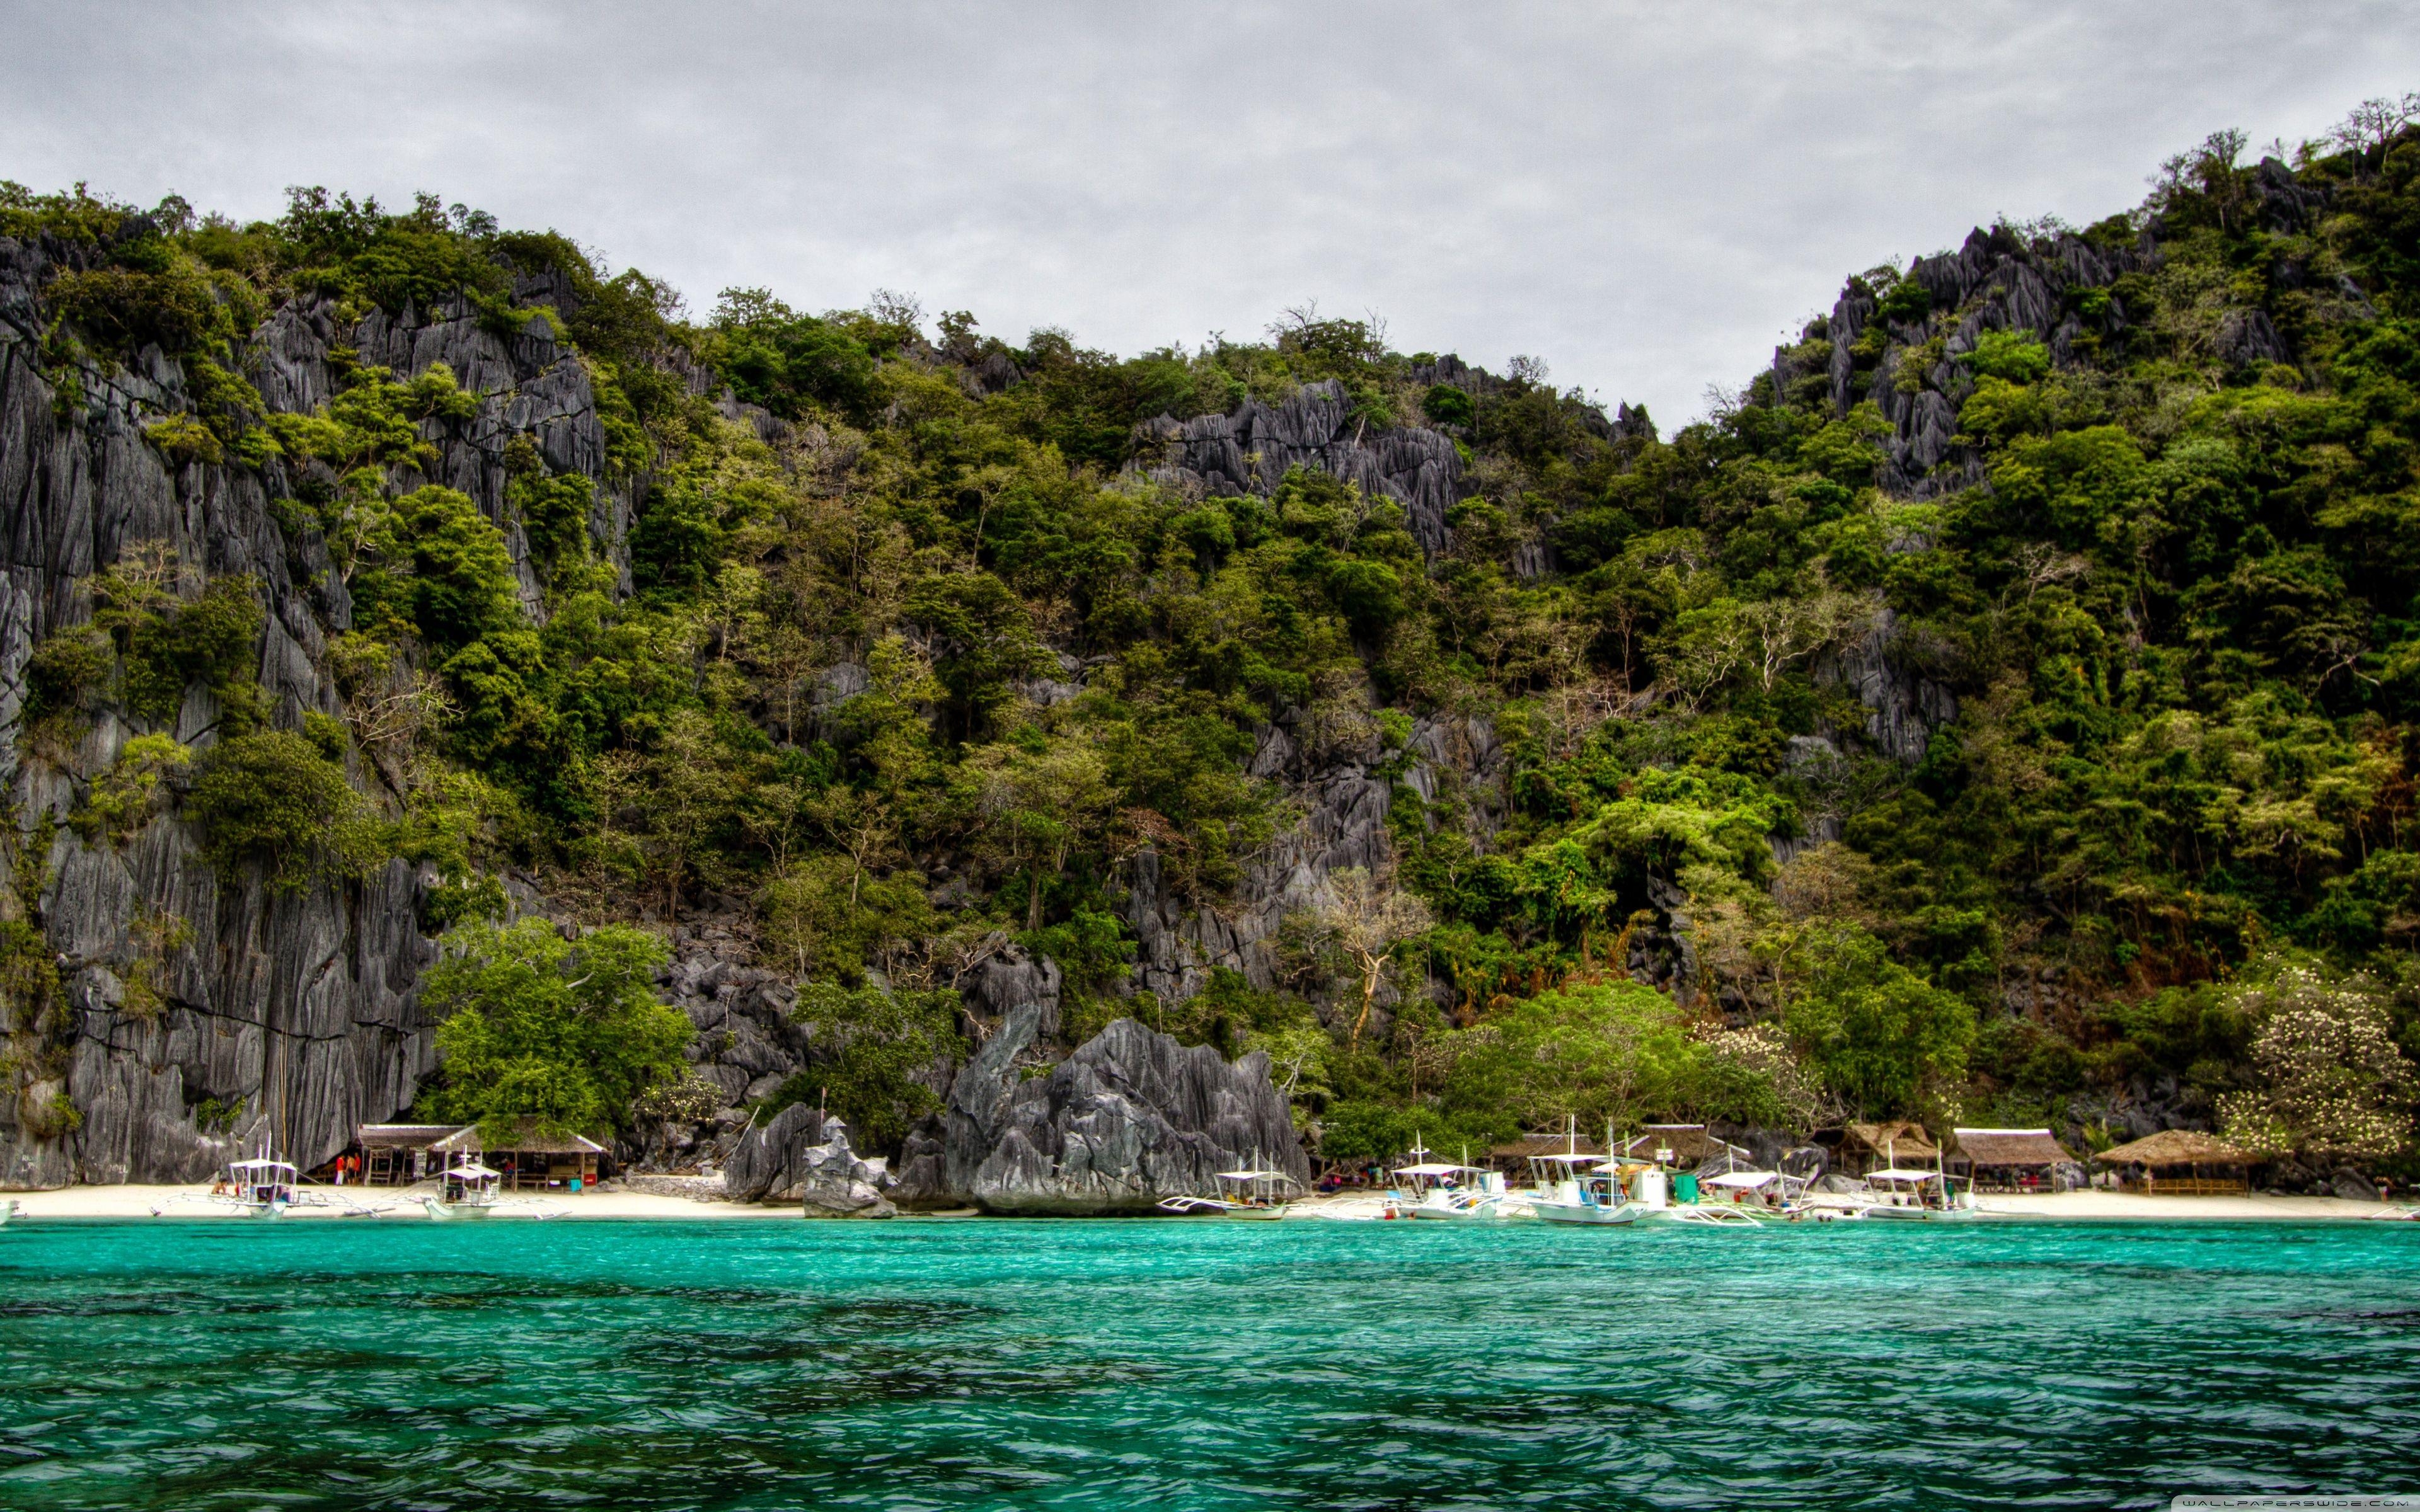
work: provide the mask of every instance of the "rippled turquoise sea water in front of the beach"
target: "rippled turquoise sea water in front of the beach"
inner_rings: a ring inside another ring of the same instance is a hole
[[[2420,1224],[0,1229],[0,1507],[2420,1490]]]

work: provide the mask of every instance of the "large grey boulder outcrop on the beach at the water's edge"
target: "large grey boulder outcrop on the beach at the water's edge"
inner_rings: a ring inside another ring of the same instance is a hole
[[[987,1212],[1150,1212],[1162,1198],[1217,1190],[1217,1173],[1258,1159],[1309,1181],[1309,1161],[1268,1057],[1227,1062],[1118,1018],[1045,1077],[1019,1057],[1041,1006],[1014,1009],[958,1072],[949,1106],[908,1139],[898,1200]]]

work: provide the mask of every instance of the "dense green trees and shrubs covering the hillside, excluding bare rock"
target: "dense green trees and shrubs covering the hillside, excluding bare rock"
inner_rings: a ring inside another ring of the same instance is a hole
[[[670,1067],[632,1004],[612,1014],[644,1045],[590,1045],[578,1074],[530,1060],[564,1040],[549,1023],[588,1018],[559,973],[532,987],[569,946],[482,924],[511,864],[598,924],[745,900],[760,956],[813,985],[801,1011],[840,1048],[784,1096],[837,1098],[881,1142],[929,1106],[917,1067],[963,1048],[934,992],[1009,936],[1062,963],[1072,1035],[1135,1014],[1270,1050],[1338,1159],[1563,1115],[1914,1113],[2105,1139],[2151,1103],[2314,1164],[2393,1164],[2420,1052],[2408,114],[2369,111],[2292,169],[2243,165],[2222,133],[2142,210],[1994,227],[2004,252],[2074,235],[2125,254],[2115,283],[2069,293],[2064,353],[2030,331],[1953,341],[1965,312],[1880,266],[1851,281],[1876,317],[1846,406],[1815,319],[1667,440],[1539,363],[1423,382],[1428,353],[1314,312],[1125,360],[1060,331],[1009,346],[963,312],[927,329],[888,295],[803,314],[726,290],[687,319],[641,273],[433,198],[307,191],[230,225],[10,186],[0,235],[90,249],[46,295],[53,370],[182,360],[196,406],[152,443],[290,484],[288,523],[324,537],[353,602],[332,651],[353,719],[266,731],[227,653],[249,600],[177,600],[162,564],[121,564],[92,627],[39,648],[29,740],[198,680],[232,723],[184,810],[220,866],[295,885],[436,861],[431,922],[465,931],[436,999],[489,1004],[445,1031],[431,1108],[462,1115],[607,1127],[641,1069]],[[2280,181],[2306,213],[2268,210]],[[552,302],[518,305],[537,276]],[[453,373],[353,368],[312,416],[266,416],[244,377],[283,300],[351,319],[455,293],[583,353],[605,481],[639,503],[627,588],[588,530],[593,479],[515,443],[532,622],[496,523],[411,469],[474,404]],[[1125,467],[1137,421],[1316,380],[1372,431],[1454,438],[1474,491],[1442,556],[1321,472],[1200,498]],[[721,385],[782,426],[728,419]],[[1955,414],[1921,489],[1883,486],[1878,385]],[[1866,738],[1837,675],[1885,612],[1892,656],[1958,702],[1914,762]],[[862,694],[832,697],[840,665]],[[1033,697],[1077,668],[1082,692]],[[1266,721],[1401,777],[1411,716],[1437,711],[1510,750],[1493,837],[1452,774],[1433,803],[1396,784],[1394,876],[1343,878],[1290,922],[1283,980],[1130,994],[1135,852],[1215,907],[1290,823],[1290,796],[1244,777]],[[353,755],[375,813],[332,789]],[[172,760],[128,748],[92,832],[155,803],[145,772]],[[1774,837],[1798,839],[1788,864]],[[1694,989],[1631,980],[1653,931],[1687,934]],[[632,980],[644,951],[590,939]]]

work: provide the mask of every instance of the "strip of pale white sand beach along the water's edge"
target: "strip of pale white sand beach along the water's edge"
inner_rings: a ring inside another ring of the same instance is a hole
[[[346,1219],[375,1217],[385,1222],[433,1222],[421,1210],[421,1198],[433,1195],[431,1185],[416,1188],[332,1188],[310,1185],[307,1198],[324,1205],[300,1205],[286,1212],[288,1219]],[[0,1193],[0,1202],[17,1202],[15,1222],[44,1219],[220,1219],[242,1222],[249,1214],[211,1202],[211,1188],[194,1185],[68,1185],[31,1193]],[[1319,1217],[1321,1207],[1346,1202],[1341,1198],[1307,1198],[1295,1205],[1292,1217]],[[2052,1219],[2052,1222],[2379,1222],[2386,1214],[2410,1214],[2398,1202],[2352,1202],[2347,1198],[2144,1198],[2139,1193],[2050,1193],[2050,1195],[1984,1195],[1984,1217],[1996,1219]],[[525,1205],[496,1214],[499,1219],[530,1222],[547,1219],[639,1219],[639,1222],[808,1222],[796,1202],[728,1202],[721,1198],[687,1198],[649,1190],[593,1190],[532,1195]],[[946,1214],[900,1217],[975,1217],[966,1210]],[[818,1219],[818,1222],[883,1222],[883,1219]],[[1195,1219],[1200,1222],[1200,1219]]]

